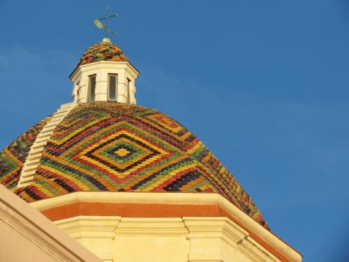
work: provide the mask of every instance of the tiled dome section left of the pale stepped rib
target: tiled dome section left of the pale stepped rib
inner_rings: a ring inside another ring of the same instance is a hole
[[[46,117],[39,124],[31,127],[0,152],[0,184],[8,189],[15,189],[20,181],[20,173],[28,157],[30,147],[49,119],[50,117]]]

